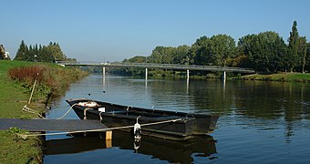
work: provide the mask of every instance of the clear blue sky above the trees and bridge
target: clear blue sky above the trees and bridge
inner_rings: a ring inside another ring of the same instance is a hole
[[[79,61],[150,56],[156,46],[191,46],[201,36],[275,31],[293,21],[310,41],[309,0],[0,0],[0,44],[12,57],[22,40],[57,42]]]

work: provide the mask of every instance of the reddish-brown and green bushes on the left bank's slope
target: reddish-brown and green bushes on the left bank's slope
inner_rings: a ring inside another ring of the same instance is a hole
[[[29,91],[37,80],[35,92],[37,97],[62,95],[72,81],[88,75],[75,68],[48,66],[15,67],[8,73],[12,79],[23,83],[22,86]]]

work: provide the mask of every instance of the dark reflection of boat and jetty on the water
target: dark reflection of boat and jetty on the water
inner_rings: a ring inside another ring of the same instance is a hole
[[[186,141],[175,141],[161,138],[143,137],[140,142],[127,132],[115,130],[111,143],[101,134],[91,134],[87,137],[51,139],[45,143],[45,155],[74,154],[97,149],[132,149],[133,153],[150,155],[152,159],[168,162],[191,163],[195,157],[216,159],[215,140],[211,136],[200,136]],[[99,156],[99,155],[98,155]]]

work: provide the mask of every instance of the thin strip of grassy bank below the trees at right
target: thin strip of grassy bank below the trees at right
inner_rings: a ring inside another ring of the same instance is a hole
[[[282,82],[310,82],[310,74],[302,73],[282,73],[271,75],[248,75],[244,77],[238,77],[243,80],[262,80],[262,81],[282,81]]]

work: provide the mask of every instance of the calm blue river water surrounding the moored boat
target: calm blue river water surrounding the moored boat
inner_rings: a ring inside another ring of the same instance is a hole
[[[219,115],[210,136],[188,142],[127,133],[48,136],[45,163],[309,163],[310,84],[239,80],[135,79],[91,75],[53,102],[48,118],[87,97],[115,104]],[[66,118],[78,119],[73,111]],[[143,129],[142,129],[143,130]]]

